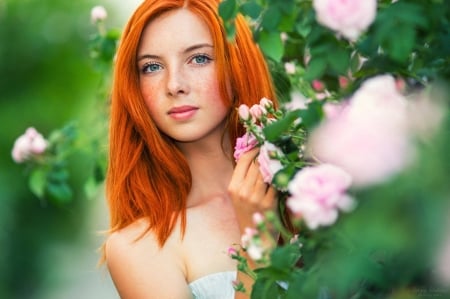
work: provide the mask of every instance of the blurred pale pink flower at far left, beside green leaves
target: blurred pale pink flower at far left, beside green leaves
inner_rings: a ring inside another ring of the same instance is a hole
[[[42,154],[47,146],[47,140],[35,128],[30,127],[14,142],[12,158],[15,162],[22,163],[32,155]]]

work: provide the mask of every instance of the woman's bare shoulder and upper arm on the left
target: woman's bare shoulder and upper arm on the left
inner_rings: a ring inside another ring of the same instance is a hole
[[[139,220],[106,241],[106,264],[123,299],[191,298],[176,250],[160,248]],[[141,238],[140,238],[141,237]]]

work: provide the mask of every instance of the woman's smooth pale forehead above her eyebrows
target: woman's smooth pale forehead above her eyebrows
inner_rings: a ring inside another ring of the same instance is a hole
[[[193,43],[213,44],[206,23],[188,9],[165,12],[150,21],[142,32],[138,52],[185,49]]]

